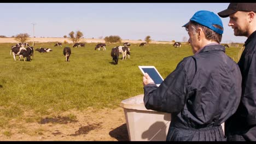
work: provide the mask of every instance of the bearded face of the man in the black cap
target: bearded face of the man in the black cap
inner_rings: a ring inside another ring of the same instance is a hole
[[[229,24],[234,29],[234,35],[248,37],[249,29],[249,17],[248,13],[244,11],[237,11],[234,14],[229,15]]]

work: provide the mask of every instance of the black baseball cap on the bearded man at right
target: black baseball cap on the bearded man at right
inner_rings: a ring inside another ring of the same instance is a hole
[[[229,7],[223,11],[220,11],[218,15],[220,17],[228,17],[230,14],[236,13],[236,11],[256,12],[256,3],[230,3]]]

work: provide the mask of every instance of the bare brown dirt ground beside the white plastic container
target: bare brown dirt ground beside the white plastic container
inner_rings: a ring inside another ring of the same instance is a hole
[[[25,113],[25,117],[33,115]],[[1,129],[0,141],[129,141],[129,136],[124,110],[118,107],[97,112],[70,110],[30,122],[12,119],[9,127]]]

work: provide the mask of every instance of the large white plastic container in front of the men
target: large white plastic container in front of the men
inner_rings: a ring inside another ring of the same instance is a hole
[[[171,114],[147,110],[144,94],[121,101],[130,141],[165,141]],[[224,131],[224,123],[222,124]]]

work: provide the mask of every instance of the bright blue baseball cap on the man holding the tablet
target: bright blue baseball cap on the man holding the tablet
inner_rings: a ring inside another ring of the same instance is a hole
[[[202,26],[206,26],[218,34],[223,34],[222,29],[219,29],[219,28],[213,26],[213,25],[219,25],[223,28],[222,20],[220,19],[220,17],[218,15],[214,14],[212,11],[207,11],[207,10],[197,11],[191,17],[190,21],[195,21]],[[186,27],[188,24],[189,24],[189,22],[186,23],[182,27]]]

